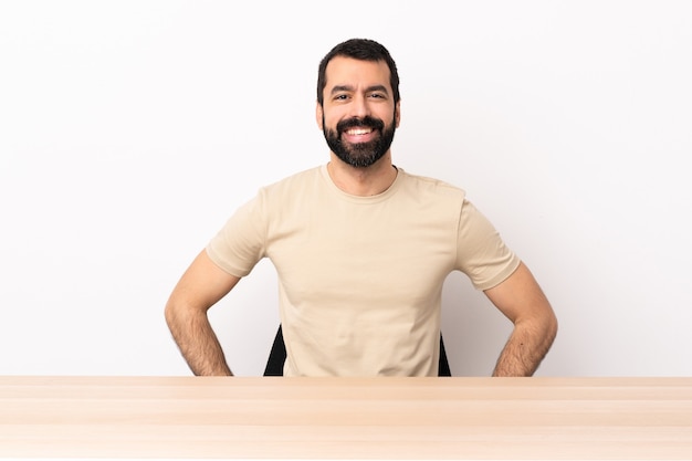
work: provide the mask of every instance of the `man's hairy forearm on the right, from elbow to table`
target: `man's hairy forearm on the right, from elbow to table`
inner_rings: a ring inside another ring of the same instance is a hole
[[[515,324],[500,354],[493,376],[533,376],[548,353],[556,333],[557,323],[554,317],[546,319],[541,326],[528,322]]]

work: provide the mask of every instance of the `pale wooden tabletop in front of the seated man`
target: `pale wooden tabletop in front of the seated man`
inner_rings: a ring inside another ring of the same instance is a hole
[[[0,377],[0,458],[692,459],[692,378]]]

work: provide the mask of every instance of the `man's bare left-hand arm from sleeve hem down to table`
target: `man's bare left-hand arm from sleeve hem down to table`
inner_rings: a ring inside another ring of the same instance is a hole
[[[217,266],[202,250],[174,289],[166,322],[190,369],[198,376],[233,376],[207,311],[240,279]]]

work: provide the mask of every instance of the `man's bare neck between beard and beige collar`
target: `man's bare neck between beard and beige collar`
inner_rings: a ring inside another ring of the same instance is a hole
[[[387,153],[375,165],[356,168],[331,154],[327,164],[329,177],[344,192],[352,196],[368,197],[382,193],[397,178],[397,169],[391,164],[391,153]]]

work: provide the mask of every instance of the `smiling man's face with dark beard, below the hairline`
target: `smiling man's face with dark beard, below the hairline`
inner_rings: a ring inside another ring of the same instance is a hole
[[[317,124],[329,149],[346,164],[366,168],[379,160],[399,126],[387,64],[344,56],[329,61]]]

